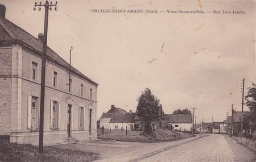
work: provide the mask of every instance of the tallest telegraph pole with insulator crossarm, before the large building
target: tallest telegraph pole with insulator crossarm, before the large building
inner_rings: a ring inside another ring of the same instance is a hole
[[[46,1],[44,5],[42,2],[35,2],[35,6],[33,10],[36,10],[36,6],[38,10],[41,10],[41,6],[44,6],[45,13],[44,13],[44,38],[43,38],[43,54],[42,54],[42,73],[41,73],[41,94],[40,94],[40,118],[39,118],[39,152],[43,152],[43,142],[44,142],[44,93],[46,89],[46,57],[47,57],[47,30],[48,30],[48,13],[49,10],[52,10],[52,6],[55,6],[55,11],[57,11],[57,2],[55,5],[52,5],[52,2]]]

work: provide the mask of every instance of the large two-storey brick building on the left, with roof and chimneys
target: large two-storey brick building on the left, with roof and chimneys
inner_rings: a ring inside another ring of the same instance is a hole
[[[3,7],[0,7],[1,9]],[[0,12],[3,13],[3,12]],[[0,15],[0,135],[39,141],[42,35],[28,34]],[[44,142],[96,138],[98,84],[47,48]]]

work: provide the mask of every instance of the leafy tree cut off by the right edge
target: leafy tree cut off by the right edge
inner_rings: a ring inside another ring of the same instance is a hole
[[[252,83],[253,87],[248,88],[247,95],[245,96],[245,105],[249,108],[250,114],[246,115],[245,121],[249,122],[253,130],[256,127],[256,84]]]

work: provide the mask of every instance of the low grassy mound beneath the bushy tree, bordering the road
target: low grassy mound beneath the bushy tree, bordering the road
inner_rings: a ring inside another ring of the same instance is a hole
[[[126,131],[125,130],[98,130],[97,138],[104,140],[116,140],[123,142],[168,142],[196,136],[184,132],[171,131],[167,129],[157,129],[151,135],[145,135],[143,131]]]

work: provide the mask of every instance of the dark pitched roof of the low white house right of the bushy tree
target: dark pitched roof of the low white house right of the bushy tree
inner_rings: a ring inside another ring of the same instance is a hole
[[[192,123],[192,115],[189,114],[164,114],[167,123]]]

